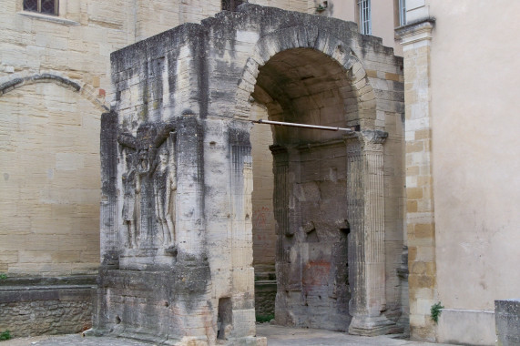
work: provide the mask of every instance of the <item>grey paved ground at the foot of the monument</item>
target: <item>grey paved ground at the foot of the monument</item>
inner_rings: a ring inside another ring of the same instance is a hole
[[[268,323],[257,326],[257,334],[265,336],[269,346],[441,346],[446,344],[406,341],[389,337],[362,337],[337,331],[286,328]],[[0,346],[150,346],[149,343],[116,338],[82,337],[81,334],[40,336],[0,342]]]

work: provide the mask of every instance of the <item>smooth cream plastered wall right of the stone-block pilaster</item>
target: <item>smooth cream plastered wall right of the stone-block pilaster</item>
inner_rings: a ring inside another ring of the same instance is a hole
[[[476,314],[519,295],[520,3],[427,5],[437,19],[431,109],[439,300]],[[448,334],[440,336],[451,340]]]

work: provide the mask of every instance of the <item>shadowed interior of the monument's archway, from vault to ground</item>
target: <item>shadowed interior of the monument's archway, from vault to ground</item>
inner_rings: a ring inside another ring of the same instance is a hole
[[[294,48],[272,56],[259,68],[252,97],[264,107],[263,117],[270,120],[347,127],[357,125],[359,117],[354,90],[348,71],[330,56]],[[253,109],[252,117],[261,117],[260,107]],[[258,137],[256,128],[251,137]],[[344,133],[298,127],[271,127],[271,131],[275,222],[274,229],[262,229],[253,222],[255,276],[257,280],[266,276],[260,272],[266,270],[265,257],[274,252],[277,323],[346,331],[352,320],[348,310],[352,293]],[[252,142],[255,165],[255,152],[262,150],[255,148],[258,140]],[[255,191],[266,189],[266,179],[259,177],[258,168],[253,166]],[[253,220],[269,219],[265,209],[254,209],[260,205],[260,195],[265,192],[256,196],[253,192],[253,210],[257,210]],[[266,241],[266,232],[276,240]],[[261,249],[269,244],[274,249]],[[262,309],[266,305],[257,299],[259,303]]]

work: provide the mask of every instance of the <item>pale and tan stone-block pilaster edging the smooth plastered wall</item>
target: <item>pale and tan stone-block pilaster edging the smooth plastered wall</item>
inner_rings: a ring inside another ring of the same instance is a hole
[[[398,30],[404,51],[406,238],[410,332],[435,340],[430,307],[437,301],[431,127],[431,33],[422,22]]]

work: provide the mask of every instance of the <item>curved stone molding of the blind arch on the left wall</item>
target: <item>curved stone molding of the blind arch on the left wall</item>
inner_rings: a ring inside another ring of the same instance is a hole
[[[14,78],[9,79],[5,83],[0,84],[0,97],[19,87],[28,86],[35,83],[54,83],[57,86],[63,86],[69,90],[78,93],[80,96],[85,97],[95,107],[97,107],[97,109],[101,110],[102,112],[107,112],[109,110],[107,103],[100,101],[95,96],[95,90],[92,86],[88,86],[87,84],[81,86],[72,79],[51,73],[34,74],[31,76],[15,76]]]

